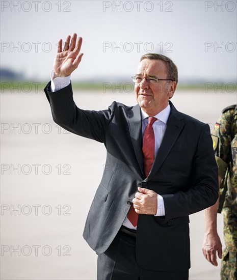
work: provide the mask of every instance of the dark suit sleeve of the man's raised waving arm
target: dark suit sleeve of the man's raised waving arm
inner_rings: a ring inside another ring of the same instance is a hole
[[[82,110],[73,100],[71,83],[57,92],[50,91],[50,83],[44,92],[51,107],[52,119],[72,133],[105,143],[105,132],[114,116],[116,102],[107,110]]]

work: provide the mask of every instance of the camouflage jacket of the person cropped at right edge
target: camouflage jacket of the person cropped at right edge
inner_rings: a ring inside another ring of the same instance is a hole
[[[237,205],[237,105],[222,111],[212,131],[213,147],[218,165],[218,174],[224,178],[227,167],[227,192],[224,207]]]

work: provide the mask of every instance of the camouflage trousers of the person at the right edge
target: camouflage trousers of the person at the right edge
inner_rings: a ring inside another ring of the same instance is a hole
[[[237,206],[225,207],[224,240],[225,249],[221,261],[221,280],[237,279]]]

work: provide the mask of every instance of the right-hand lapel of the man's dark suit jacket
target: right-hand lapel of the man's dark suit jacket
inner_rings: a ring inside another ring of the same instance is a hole
[[[170,102],[170,101],[169,101]],[[175,109],[174,105],[170,102],[170,116],[167,121],[167,126],[165,130],[164,137],[162,139],[161,146],[155,156],[155,160],[151,167],[149,177],[152,177],[153,174],[159,170],[162,163],[166,159],[167,155],[169,154],[170,150],[172,149],[176,139],[178,138],[182,128],[184,126],[183,122],[180,122],[182,117],[180,116],[179,112]]]

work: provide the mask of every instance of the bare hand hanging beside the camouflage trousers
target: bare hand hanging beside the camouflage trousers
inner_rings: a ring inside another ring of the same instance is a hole
[[[222,257],[222,244],[217,233],[204,234],[202,253],[208,262],[217,266],[217,253],[220,259]]]

